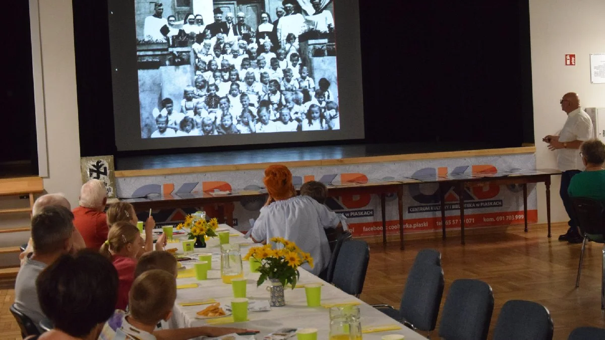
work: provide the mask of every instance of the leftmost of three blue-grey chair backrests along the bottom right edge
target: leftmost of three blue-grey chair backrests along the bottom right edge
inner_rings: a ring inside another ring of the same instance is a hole
[[[439,336],[448,340],[485,340],[494,312],[489,284],[479,280],[456,280],[445,299]]]

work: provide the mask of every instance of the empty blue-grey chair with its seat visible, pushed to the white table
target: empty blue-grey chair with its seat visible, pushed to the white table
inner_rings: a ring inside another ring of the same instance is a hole
[[[445,286],[443,269],[439,266],[440,258],[441,253],[434,249],[422,249],[416,254],[405,281],[399,310],[388,304],[375,304],[372,307],[410,329],[428,332],[430,335],[437,325]]]

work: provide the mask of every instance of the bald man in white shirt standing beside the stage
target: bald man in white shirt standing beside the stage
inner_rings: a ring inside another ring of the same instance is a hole
[[[546,136],[542,139],[548,143],[548,149],[551,151],[559,150],[557,155],[557,167],[563,171],[561,174],[560,195],[563,200],[563,206],[569,216],[569,229],[563,235],[559,236],[559,241],[568,241],[569,243],[581,243],[582,237],[578,232],[578,224],[573,217],[571,199],[567,192],[569,182],[575,174],[584,169],[584,164],[578,149],[583,142],[592,139],[592,121],[590,117],[580,108],[580,98],[578,94],[570,92],[564,94],[559,102],[561,110],[567,113],[567,120],[559,136]]]

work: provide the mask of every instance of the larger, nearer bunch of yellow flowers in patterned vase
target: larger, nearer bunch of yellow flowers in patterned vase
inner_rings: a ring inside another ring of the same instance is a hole
[[[271,286],[270,304],[273,307],[284,306],[284,287],[290,284],[292,289],[296,286],[296,281],[300,277],[298,267],[301,264],[309,263],[313,268],[313,258],[309,253],[303,252],[295,243],[284,240],[281,237],[273,237],[270,240],[275,244],[266,244],[262,247],[252,247],[248,251],[244,260],[254,258],[260,262],[258,272],[261,273],[257,281],[257,287],[269,280]]]

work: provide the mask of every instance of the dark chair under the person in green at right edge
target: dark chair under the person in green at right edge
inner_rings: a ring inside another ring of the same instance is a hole
[[[575,287],[580,287],[580,274],[582,272],[582,261],[584,260],[584,249],[586,241],[605,243],[603,233],[605,232],[604,208],[600,201],[585,197],[572,197],[572,208],[580,228],[582,250],[580,252],[580,263],[578,264],[578,276],[575,279]],[[603,249],[603,261],[601,263],[601,309],[605,309],[605,248]]]

